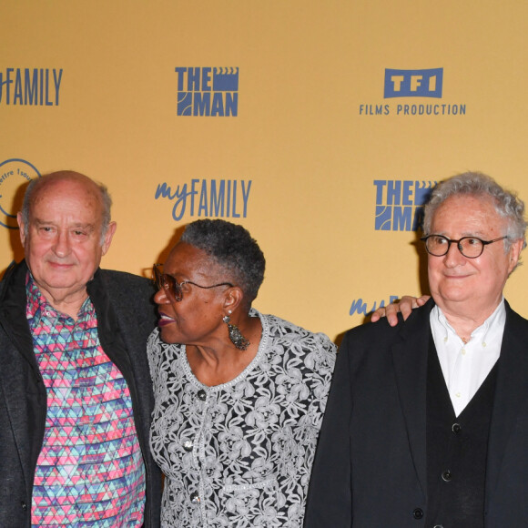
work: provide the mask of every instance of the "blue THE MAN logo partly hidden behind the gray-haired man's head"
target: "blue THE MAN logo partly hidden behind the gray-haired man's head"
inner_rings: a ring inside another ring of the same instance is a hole
[[[377,231],[416,231],[435,181],[375,179]]]

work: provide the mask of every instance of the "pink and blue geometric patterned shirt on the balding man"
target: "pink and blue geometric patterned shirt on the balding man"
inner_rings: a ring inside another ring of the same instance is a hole
[[[47,391],[32,524],[97,528],[143,524],[145,467],[132,400],[101,348],[88,298],[78,319],[46,301],[28,273],[26,315]]]

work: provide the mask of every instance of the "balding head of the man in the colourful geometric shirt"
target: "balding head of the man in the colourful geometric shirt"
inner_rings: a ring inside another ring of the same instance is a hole
[[[56,309],[74,319],[116,231],[107,189],[83,174],[61,171],[31,182],[16,219],[25,262]]]

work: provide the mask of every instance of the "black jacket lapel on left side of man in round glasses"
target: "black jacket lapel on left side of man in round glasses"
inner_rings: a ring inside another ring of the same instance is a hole
[[[392,358],[401,410],[407,425],[409,446],[414,468],[427,496],[426,466],[426,382],[427,353],[431,339],[429,314],[432,300],[411,317],[401,328],[401,341],[392,346]]]

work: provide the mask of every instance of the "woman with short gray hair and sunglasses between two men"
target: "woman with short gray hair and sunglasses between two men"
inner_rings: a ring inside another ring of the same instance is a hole
[[[264,267],[245,228],[206,219],[154,268],[163,526],[302,526],[335,348],[251,308]]]

